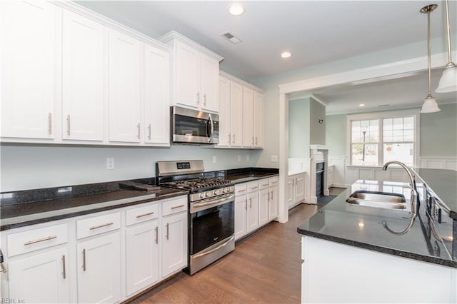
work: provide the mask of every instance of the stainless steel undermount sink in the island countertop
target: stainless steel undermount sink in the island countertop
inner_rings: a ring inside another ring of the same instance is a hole
[[[346,199],[346,202],[360,206],[386,208],[386,209],[406,209],[406,199],[403,194],[386,193],[379,191],[355,191]]]

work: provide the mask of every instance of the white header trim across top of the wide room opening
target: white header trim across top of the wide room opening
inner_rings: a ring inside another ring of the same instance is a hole
[[[278,86],[279,93],[294,93],[299,91],[308,91],[315,88],[335,86],[343,83],[378,81],[380,77],[401,78],[411,76],[416,74],[418,71],[425,71],[427,69],[427,60],[427,56],[422,56],[403,61],[396,61],[390,64],[369,66],[363,69],[356,69],[352,71],[345,71],[342,73],[336,73],[326,76],[305,78],[300,81],[282,83]],[[447,64],[447,62],[447,53],[434,54],[433,56],[431,56],[432,69],[443,67]]]

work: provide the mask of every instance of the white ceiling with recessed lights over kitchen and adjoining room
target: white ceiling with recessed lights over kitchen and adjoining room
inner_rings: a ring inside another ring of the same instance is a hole
[[[443,1],[238,2],[246,9],[241,16],[229,15],[232,1],[77,1],[154,39],[178,31],[223,56],[221,69],[246,81],[423,42],[426,16],[419,9],[431,3],[438,4],[431,14],[431,35],[438,39],[446,34]],[[456,4],[450,1],[451,31],[457,29]],[[226,31],[241,39],[241,44],[222,38]],[[293,56],[281,59],[283,50]],[[434,88],[438,77],[433,76]],[[363,111],[378,110],[381,104],[390,105],[386,108],[418,106],[427,95],[427,81],[427,74],[420,74],[313,93],[328,105],[327,113],[359,111],[357,105],[362,102],[367,105]],[[457,95],[436,99],[457,102]]]

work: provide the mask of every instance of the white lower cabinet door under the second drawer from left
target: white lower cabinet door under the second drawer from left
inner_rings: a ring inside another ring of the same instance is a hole
[[[120,232],[86,240],[76,246],[78,302],[115,303],[121,300]]]

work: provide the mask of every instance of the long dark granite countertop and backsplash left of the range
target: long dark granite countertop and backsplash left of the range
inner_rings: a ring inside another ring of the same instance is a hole
[[[186,195],[187,191],[157,187],[139,191],[119,182],[1,193],[0,230],[57,221]]]

